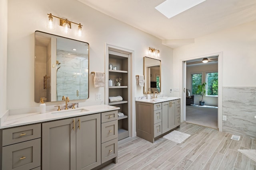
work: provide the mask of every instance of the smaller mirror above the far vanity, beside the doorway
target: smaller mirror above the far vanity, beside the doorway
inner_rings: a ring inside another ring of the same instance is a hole
[[[161,92],[161,61],[149,57],[143,58],[144,94]]]

